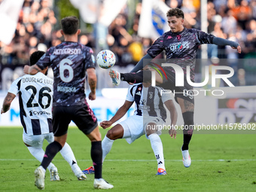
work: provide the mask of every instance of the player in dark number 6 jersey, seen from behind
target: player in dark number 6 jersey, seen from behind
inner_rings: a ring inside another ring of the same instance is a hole
[[[100,189],[114,187],[102,178],[102,142],[97,119],[87,103],[84,93],[85,75],[90,85],[89,99],[96,99],[96,72],[93,50],[78,43],[77,17],[61,20],[64,41],[50,47],[34,65],[25,66],[24,72],[35,75],[51,66],[53,69],[53,133],[54,142],[47,146],[41,166],[35,169],[35,185],[44,188],[44,172],[67,139],[71,120],[91,141],[91,158],[95,169],[93,186]]]

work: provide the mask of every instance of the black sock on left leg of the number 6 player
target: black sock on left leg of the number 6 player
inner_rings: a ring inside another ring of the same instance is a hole
[[[53,160],[53,157],[61,150],[62,146],[59,142],[52,142],[47,145],[45,150],[44,159],[41,162],[41,166],[46,169],[49,166],[50,162]]]

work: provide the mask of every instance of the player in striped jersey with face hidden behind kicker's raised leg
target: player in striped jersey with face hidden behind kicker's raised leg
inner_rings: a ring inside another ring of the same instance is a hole
[[[114,140],[126,139],[126,142],[131,144],[145,134],[150,139],[151,148],[157,158],[157,175],[166,175],[163,144],[159,136],[161,133],[160,127],[166,125],[166,109],[164,105],[168,108],[172,119],[170,128],[175,126],[177,111],[170,94],[163,93],[163,91],[160,87],[152,87],[151,82],[134,84],[129,87],[126,101],[117,110],[114,117],[111,120],[105,120],[100,123],[103,129],[111,126],[126,114],[126,111],[129,110],[133,103],[135,104],[136,110],[133,116],[113,126],[102,140],[103,160],[111,150]],[[169,129],[169,134],[171,137],[176,137],[176,130]]]

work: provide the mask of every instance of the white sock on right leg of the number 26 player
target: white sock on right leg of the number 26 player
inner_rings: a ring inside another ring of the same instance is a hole
[[[77,160],[75,159],[75,155],[72,151],[72,148],[69,146],[68,143],[65,143],[63,148],[59,151],[62,157],[69,163],[72,168],[72,172],[77,175],[81,172],[80,167],[78,166]]]

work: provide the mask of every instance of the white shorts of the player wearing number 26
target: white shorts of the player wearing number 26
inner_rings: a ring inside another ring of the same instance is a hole
[[[51,143],[54,141],[53,133],[47,133],[42,135],[36,135],[36,136],[28,136],[26,133],[23,133],[23,142],[26,143],[26,145],[30,145],[34,148],[42,148],[44,139],[47,140],[48,143]]]

